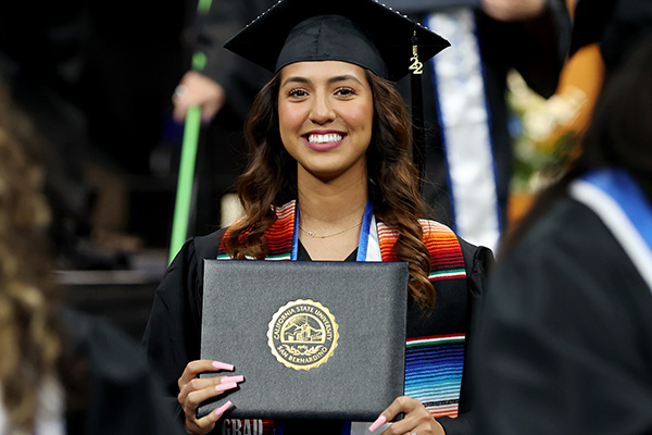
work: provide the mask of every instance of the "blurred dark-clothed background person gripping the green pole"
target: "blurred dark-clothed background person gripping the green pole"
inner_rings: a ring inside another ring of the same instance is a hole
[[[275,3],[275,0],[213,0],[206,13],[196,14],[189,32],[189,47],[205,55],[205,65],[193,71],[190,60],[186,62],[189,71],[179,80],[173,102],[177,122],[185,120],[191,105],[200,105],[202,121],[208,125],[198,157],[197,234],[214,231],[221,224],[220,198],[235,192],[235,179],[247,161],[244,119],[255,94],[271,78],[268,72],[223,46]]]

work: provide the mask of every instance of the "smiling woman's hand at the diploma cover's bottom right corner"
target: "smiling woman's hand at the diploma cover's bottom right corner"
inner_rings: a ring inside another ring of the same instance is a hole
[[[401,412],[405,414],[403,420],[392,423],[383,435],[446,435],[441,424],[423,403],[408,396],[397,398],[383,411],[378,420],[383,423],[389,422]]]

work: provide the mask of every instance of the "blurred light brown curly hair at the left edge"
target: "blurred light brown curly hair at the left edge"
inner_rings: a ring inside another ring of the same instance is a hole
[[[0,388],[13,431],[33,433],[37,391],[58,378],[62,345],[50,284],[43,172],[33,128],[0,89]]]

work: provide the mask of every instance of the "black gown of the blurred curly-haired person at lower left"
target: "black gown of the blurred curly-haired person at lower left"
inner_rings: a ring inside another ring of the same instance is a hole
[[[63,310],[61,320],[65,350],[74,356],[65,361],[82,361],[88,372],[86,385],[75,385],[87,396],[82,409],[68,409],[68,435],[185,433],[162,398],[160,380],[129,337],[105,321],[71,310]],[[65,369],[75,371],[78,365]]]

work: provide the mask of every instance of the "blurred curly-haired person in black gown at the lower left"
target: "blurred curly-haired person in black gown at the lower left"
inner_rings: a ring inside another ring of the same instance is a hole
[[[137,347],[62,306],[41,137],[0,83],[0,433],[178,434]]]

